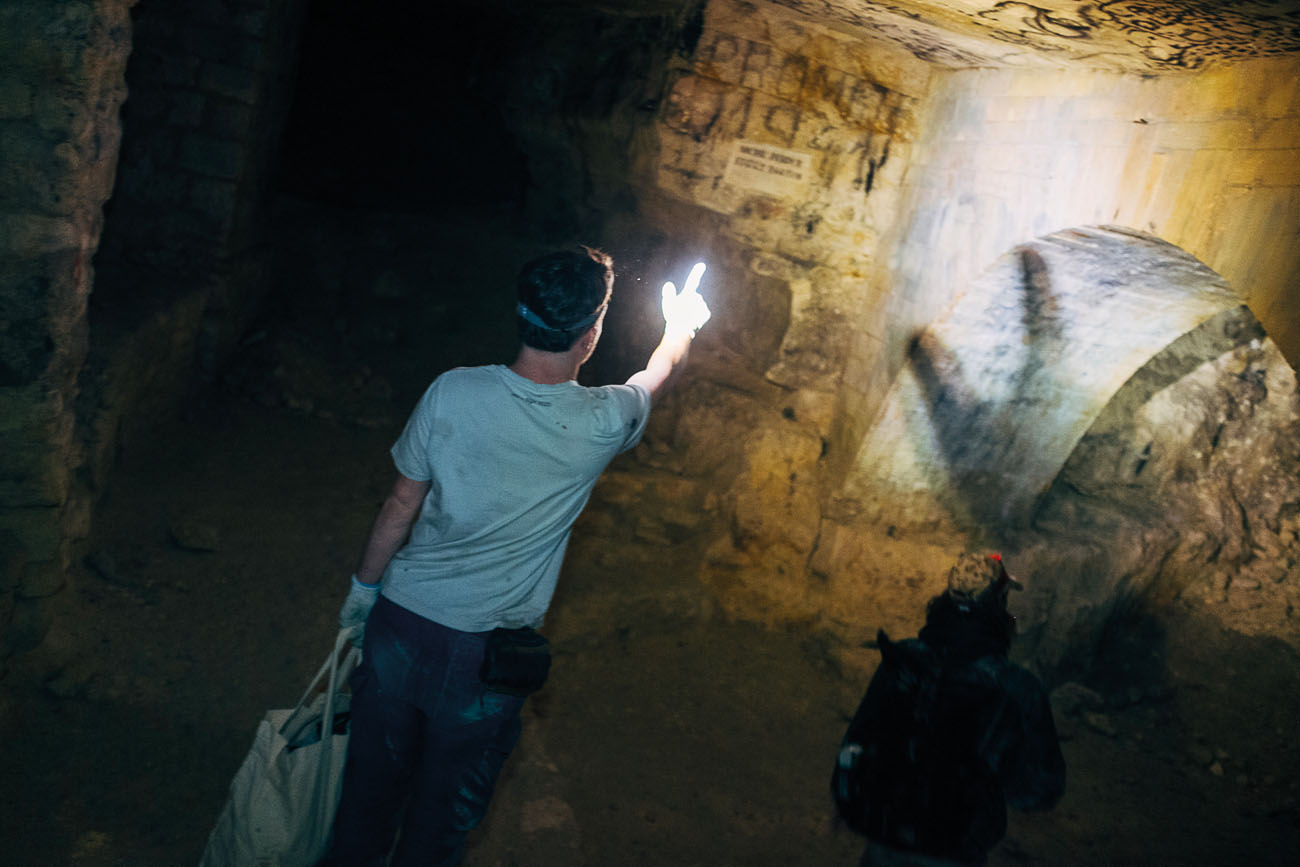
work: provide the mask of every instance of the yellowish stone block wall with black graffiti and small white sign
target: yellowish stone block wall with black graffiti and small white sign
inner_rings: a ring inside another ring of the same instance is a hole
[[[897,240],[932,74],[864,31],[732,0],[707,4],[664,73],[630,179],[641,218],[666,233],[715,217],[701,250],[716,263],[715,320],[642,460],[696,480],[699,576],[733,614],[820,616],[810,558],[840,381],[862,322],[885,307],[876,273]],[[767,321],[737,328],[755,305]],[[755,352],[774,321],[771,351]]]

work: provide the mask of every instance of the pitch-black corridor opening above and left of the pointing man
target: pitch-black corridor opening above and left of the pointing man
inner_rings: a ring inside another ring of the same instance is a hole
[[[519,204],[497,4],[309,0],[277,186],[385,211]]]

